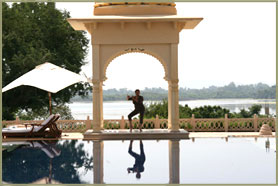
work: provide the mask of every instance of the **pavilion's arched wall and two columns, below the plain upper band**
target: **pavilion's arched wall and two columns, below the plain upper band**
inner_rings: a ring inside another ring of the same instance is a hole
[[[168,82],[168,128],[179,131],[178,103],[178,44],[177,43],[147,43],[147,44],[92,44],[93,48],[93,131],[103,129],[103,82],[106,69],[116,57],[140,52],[158,59],[165,71]],[[147,67],[146,67],[147,68]]]

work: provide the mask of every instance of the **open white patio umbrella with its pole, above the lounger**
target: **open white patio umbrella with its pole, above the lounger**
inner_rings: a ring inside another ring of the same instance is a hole
[[[33,86],[45,90],[49,95],[49,111],[52,114],[51,93],[57,93],[78,82],[88,82],[88,79],[59,66],[45,62],[5,86],[2,92],[21,85]]]

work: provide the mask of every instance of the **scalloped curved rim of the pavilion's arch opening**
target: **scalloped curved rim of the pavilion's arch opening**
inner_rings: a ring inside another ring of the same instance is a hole
[[[103,76],[102,76],[101,80],[102,81],[107,80],[106,71],[107,71],[107,68],[108,68],[109,64],[114,59],[116,59],[117,57],[120,57],[122,55],[129,54],[129,53],[141,53],[141,54],[146,54],[146,55],[152,56],[152,57],[154,57],[156,60],[158,60],[160,62],[160,64],[163,67],[163,70],[164,70],[164,80],[168,81],[169,77],[168,77],[168,64],[167,64],[167,61],[164,60],[160,55],[158,55],[158,54],[156,54],[154,52],[151,52],[149,50],[144,50],[143,48],[141,50],[142,51],[140,51],[140,50],[137,50],[137,51],[121,50],[121,51],[118,51],[117,53],[115,53],[114,55],[110,56],[109,58],[105,58],[105,61],[103,63],[103,68],[102,68]]]

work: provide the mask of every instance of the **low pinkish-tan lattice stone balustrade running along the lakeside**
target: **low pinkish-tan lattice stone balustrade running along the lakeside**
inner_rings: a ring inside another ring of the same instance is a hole
[[[19,120],[2,121],[2,126],[8,127],[23,123],[42,123],[43,120]],[[92,120],[87,117],[86,120],[58,120],[57,126],[63,132],[85,132],[92,128]],[[139,120],[133,120],[133,128],[138,128]],[[269,124],[272,131],[275,131],[275,118],[259,118],[254,115],[253,118],[191,118],[179,119],[180,128],[189,132],[258,132],[263,124]],[[105,119],[104,129],[128,129],[129,122],[122,116],[121,119]],[[158,116],[154,119],[144,119],[143,129],[167,129],[168,119],[160,119]]]

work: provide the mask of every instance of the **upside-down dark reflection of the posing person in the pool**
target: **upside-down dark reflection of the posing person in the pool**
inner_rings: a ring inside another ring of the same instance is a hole
[[[136,178],[141,178],[141,172],[144,171],[144,163],[146,160],[142,140],[140,140],[140,155],[132,151],[133,140],[130,140],[128,153],[135,158],[135,164],[132,168],[127,168],[128,173],[136,172]]]

